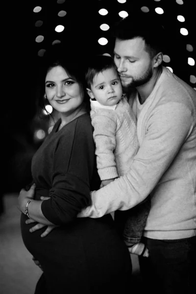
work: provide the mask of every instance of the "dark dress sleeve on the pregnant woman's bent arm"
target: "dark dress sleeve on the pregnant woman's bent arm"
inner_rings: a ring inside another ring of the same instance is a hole
[[[52,223],[73,221],[91,203],[90,181],[94,168],[94,141],[90,119],[76,123],[59,139],[54,151],[50,199],[42,202],[42,213]]]

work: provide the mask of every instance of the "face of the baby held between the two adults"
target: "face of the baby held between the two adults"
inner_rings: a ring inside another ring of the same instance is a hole
[[[91,95],[100,104],[113,106],[120,101],[122,94],[121,80],[114,68],[98,73],[94,77]]]

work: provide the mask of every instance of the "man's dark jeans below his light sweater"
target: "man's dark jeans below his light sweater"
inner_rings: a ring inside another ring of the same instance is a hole
[[[142,242],[149,250],[149,257],[139,257],[144,291],[151,294],[195,292],[196,236],[180,240],[143,237]]]

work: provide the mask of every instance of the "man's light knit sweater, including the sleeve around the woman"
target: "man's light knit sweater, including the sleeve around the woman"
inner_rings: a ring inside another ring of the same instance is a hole
[[[136,114],[137,93],[129,101]],[[151,193],[146,237],[195,236],[196,91],[163,68],[138,115],[137,133],[140,149],[129,172],[92,192],[92,206],[79,216],[127,210]]]

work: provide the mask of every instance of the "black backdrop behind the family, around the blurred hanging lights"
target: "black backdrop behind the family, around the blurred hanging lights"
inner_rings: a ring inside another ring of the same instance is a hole
[[[102,31],[99,26],[107,24],[111,27],[121,19],[119,12],[122,10],[133,16],[139,14],[141,17],[138,22],[142,21],[144,12],[141,7],[147,6],[148,17],[156,16],[167,32],[168,49],[164,53],[170,56],[171,62],[164,65],[172,67],[173,73],[196,87],[196,84],[190,82],[190,75],[196,76],[196,65],[188,64],[188,57],[196,60],[195,1],[183,2],[180,5],[175,0],[126,0],[125,3],[119,3],[117,0],[29,0],[20,3],[11,1],[2,8],[2,194],[19,192],[31,180],[31,158],[42,143],[42,140],[35,140],[34,132],[38,127],[47,127],[47,118],[37,117],[36,83],[39,66],[44,58],[38,56],[39,50],[47,51],[54,40],[59,40],[65,48],[74,42],[79,55],[84,50],[86,54],[111,54],[111,42],[105,46],[98,44],[101,37],[109,39],[110,31]],[[33,12],[36,6],[42,7],[38,13]],[[158,15],[154,10],[156,7],[161,7],[164,14]],[[101,8],[107,9],[108,14],[100,15],[98,11]],[[61,10],[67,12],[66,16],[58,16]],[[184,16],[185,22],[179,22],[177,15]],[[37,21],[42,21],[43,24],[36,26]],[[64,25],[64,31],[55,32],[56,25]],[[181,27],[188,29],[187,36],[180,34]],[[38,35],[44,36],[43,42],[35,42]],[[186,49],[187,44],[193,46],[192,52]]]

